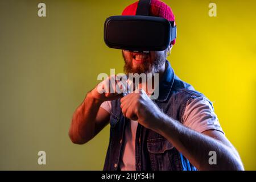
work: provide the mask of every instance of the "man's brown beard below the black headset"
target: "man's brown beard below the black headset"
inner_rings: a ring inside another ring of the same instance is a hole
[[[130,52],[129,54],[124,54],[122,51],[123,60],[125,61],[125,65],[123,67],[123,71],[125,74],[129,73],[158,73],[160,68],[166,61],[166,52],[149,52],[148,55],[150,56],[148,61],[145,61],[142,64],[137,65],[137,67],[133,66],[133,53]]]

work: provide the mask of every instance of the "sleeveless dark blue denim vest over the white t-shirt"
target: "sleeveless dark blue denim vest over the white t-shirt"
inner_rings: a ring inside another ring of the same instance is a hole
[[[175,76],[170,63],[159,82],[159,97],[152,100],[160,109],[177,121],[182,121],[185,106],[194,98],[204,97],[193,87]],[[209,100],[208,100],[209,101]],[[210,102],[210,101],[209,101]],[[210,102],[212,105],[212,103]],[[104,170],[118,170],[122,152],[125,126],[129,119],[123,117],[120,99],[112,101],[110,114],[110,139]],[[136,170],[196,170],[162,135],[138,123],[135,138]]]

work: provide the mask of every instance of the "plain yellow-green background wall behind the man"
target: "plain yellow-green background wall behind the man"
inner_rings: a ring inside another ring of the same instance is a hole
[[[46,3],[46,18],[38,3]],[[0,169],[99,169],[109,126],[82,146],[68,129],[98,73],[122,72],[103,26],[134,1],[0,1]],[[245,169],[256,169],[256,2],[164,1],[176,16],[175,73],[214,102]],[[208,5],[217,5],[209,17]],[[38,151],[46,165],[38,165]]]

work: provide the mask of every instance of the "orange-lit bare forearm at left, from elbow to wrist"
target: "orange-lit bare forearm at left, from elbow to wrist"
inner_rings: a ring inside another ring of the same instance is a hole
[[[95,120],[101,103],[90,92],[86,94],[84,102],[73,114],[69,129],[69,137],[73,143],[86,143],[94,137]]]

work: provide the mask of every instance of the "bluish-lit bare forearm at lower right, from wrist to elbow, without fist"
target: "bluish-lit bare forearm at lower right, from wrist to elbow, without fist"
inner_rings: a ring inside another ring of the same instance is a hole
[[[197,133],[162,114],[156,132],[167,138],[199,170],[243,170],[240,158],[231,147]],[[209,164],[209,151],[217,154],[217,164]]]

